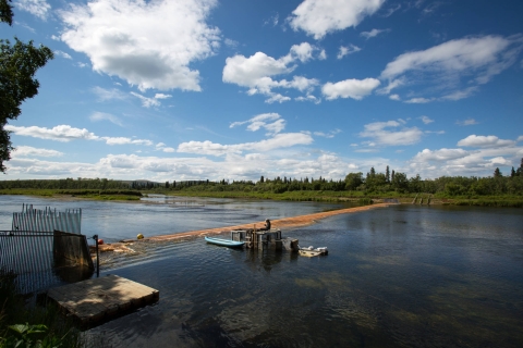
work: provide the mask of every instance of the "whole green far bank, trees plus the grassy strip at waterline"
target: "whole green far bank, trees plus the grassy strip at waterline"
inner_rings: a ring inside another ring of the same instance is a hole
[[[390,171],[366,175],[349,173],[344,179],[262,176],[258,182],[226,179],[154,183],[110,179],[65,178],[54,181],[0,181],[4,195],[71,195],[90,199],[139,199],[143,192],[197,197],[256,198],[294,201],[360,201],[363,198],[393,198],[411,202],[416,195],[433,203],[523,207],[523,159],[518,170],[503,176],[499,169],[490,177],[441,176],[422,179],[419,175]]]

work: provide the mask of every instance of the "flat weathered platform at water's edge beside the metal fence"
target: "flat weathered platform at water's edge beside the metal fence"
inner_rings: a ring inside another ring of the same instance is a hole
[[[158,301],[160,293],[143,284],[107,275],[51,288],[47,296],[83,326],[120,316],[130,310]]]

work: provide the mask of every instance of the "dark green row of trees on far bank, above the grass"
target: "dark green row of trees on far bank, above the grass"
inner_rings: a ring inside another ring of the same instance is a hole
[[[408,177],[405,173],[386,167],[378,173],[374,167],[365,175],[362,172],[349,173],[344,179],[326,179],[314,177],[275,177],[260,176],[259,181],[173,181],[155,183],[148,181],[113,181],[107,178],[65,178],[65,179],[31,179],[0,181],[0,189],[135,189],[150,191],[245,191],[283,194],[287,191],[355,191],[374,195],[433,194],[447,197],[455,196],[496,196],[523,195],[523,159],[518,170],[512,167],[509,175],[503,176],[496,169],[492,176],[440,176],[435,179],[423,179],[419,175]]]

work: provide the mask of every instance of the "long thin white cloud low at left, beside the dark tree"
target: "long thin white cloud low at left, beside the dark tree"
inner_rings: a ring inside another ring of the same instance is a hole
[[[94,133],[87,130],[86,128],[75,128],[71,127],[70,125],[59,125],[52,128],[46,127],[38,127],[38,126],[13,126],[7,125],[5,130],[13,132],[20,136],[27,136],[33,138],[46,139],[46,140],[54,140],[61,142],[69,142],[71,140],[98,140],[98,141],[106,141],[107,145],[126,145],[126,144],[134,144],[134,145],[145,145],[151,146],[153,141],[146,139],[133,139],[126,137],[100,137],[95,135]]]

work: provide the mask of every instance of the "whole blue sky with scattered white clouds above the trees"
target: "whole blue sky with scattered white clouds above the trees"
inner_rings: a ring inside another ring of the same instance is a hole
[[[0,179],[491,176],[523,158],[521,0],[13,0],[54,52]]]

